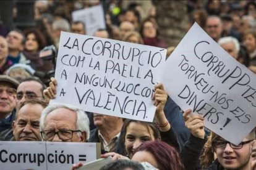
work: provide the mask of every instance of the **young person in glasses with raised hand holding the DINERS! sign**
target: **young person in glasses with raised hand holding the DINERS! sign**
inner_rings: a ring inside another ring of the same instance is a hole
[[[200,152],[206,142],[201,115],[194,115],[191,109],[184,112],[184,120],[191,135],[182,150],[181,157],[186,169],[198,169]],[[211,150],[216,159],[207,169],[250,169],[250,145],[255,139],[254,131],[250,132],[240,144],[234,145],[212,132]]]

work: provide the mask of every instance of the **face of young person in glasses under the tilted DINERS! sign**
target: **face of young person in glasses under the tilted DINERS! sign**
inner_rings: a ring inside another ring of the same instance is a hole
[[[217,139],[226,141],[222,138]],[[244,139],[243,142],[249,139]],[[230,144],[226,144],[224,148],[216,148],[216,156],[219,163],[224,169],[243,169],[250,164],[250,144],[244,144],[242,148],[232,148]]]

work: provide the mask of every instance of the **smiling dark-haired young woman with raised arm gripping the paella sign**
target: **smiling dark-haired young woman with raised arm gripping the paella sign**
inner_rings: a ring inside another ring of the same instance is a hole
[[[122,155],[132,158],[134,150],[142,145],[143,142],[160,139],[178,151],[180,150],[176,132],[164,115],[163,109],[167,100],[167,94],[164,91],[163,84],[160,83],[155,86],[155,93],[153,94],[152,100],[154,100],[154,105],[156,106],[156,123],[126,119],[122,126],[117,153],[105,153],[102,155],[103,158],[113,156],[113,160],[116,160],[125,157]]]

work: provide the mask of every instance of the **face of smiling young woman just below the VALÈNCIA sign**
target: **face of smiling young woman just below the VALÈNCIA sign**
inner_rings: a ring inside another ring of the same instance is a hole
[[[149,140],[155,140],[153,129],[145,124],[131,122],[127,126],[124,142],[129,158],[132,158],[137,147]]]

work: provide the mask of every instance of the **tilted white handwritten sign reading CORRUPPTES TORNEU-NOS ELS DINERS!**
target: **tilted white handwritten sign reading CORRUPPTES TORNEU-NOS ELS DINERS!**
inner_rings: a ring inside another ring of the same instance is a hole
[[[164,87],[205,126],[239,144],[255,127],[255,74],[224,51],[195,23],[166,60]]]

